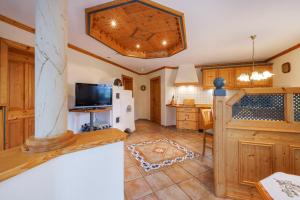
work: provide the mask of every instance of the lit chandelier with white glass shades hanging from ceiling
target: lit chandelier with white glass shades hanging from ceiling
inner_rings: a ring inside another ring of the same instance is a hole
[[[256,38],[256,35],[251,35],[250,38],[252,39],[252,73],[251,75],[247,73],[242,73],[237,79],[239,81],[243,82],[249,82],[249,81],[261,81],[261,80],[266,80],[268,78],[271,78],[274,74],[269,72],[269,71],[264,71],[264,72],[258,72],[255,71],[254,66],[254,40]]]

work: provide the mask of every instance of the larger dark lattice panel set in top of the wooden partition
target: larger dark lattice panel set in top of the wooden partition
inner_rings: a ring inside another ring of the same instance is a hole
[[[232,118],[284,121],[284,94],[246,95],[233,105]]]

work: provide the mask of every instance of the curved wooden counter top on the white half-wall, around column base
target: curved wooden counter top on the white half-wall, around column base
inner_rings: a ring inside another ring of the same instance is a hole
[[[75,135],[75,142],[55,151],[45,153],[23,152],[21,147],[16,147],[0,152],[0,182],[16,176],[35,166],[47,162],[58,156],[98,147],[105,144],[124,141],[127,134],[118,129],[106,129],[81,133]]]

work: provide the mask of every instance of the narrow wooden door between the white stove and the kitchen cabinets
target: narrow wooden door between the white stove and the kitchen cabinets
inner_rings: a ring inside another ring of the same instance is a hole
[[[150,80],[150,119],[161,124],[160,77]]]

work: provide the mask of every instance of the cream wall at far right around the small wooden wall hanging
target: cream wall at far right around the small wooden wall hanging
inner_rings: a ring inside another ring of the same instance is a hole
[[[300,48],[270,61],[273,63],[274,87],[300,87]],[[282,73],[281,65],[291,63],[291,72]]]

